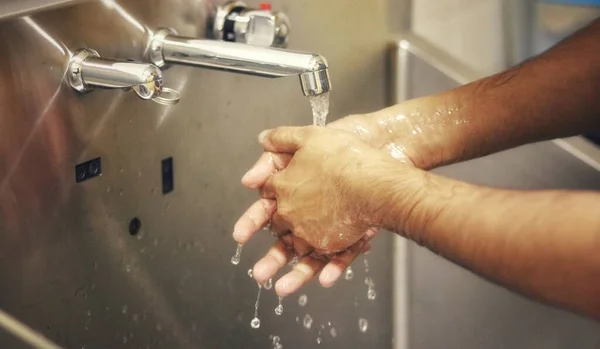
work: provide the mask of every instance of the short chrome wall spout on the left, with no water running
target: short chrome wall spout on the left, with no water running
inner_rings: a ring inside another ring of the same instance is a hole
[[[160,104],[179,102],[179,94],[163,87],[160,69],[149,63],[120,61],[100,57],[97,51],[81,49],[69,61],[69,84],[79,92],[94,88],[133,90],[144,100]]]

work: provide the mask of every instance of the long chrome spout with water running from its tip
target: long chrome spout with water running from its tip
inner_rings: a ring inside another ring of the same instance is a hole
[[[327,61],[312,53],[187,38],[161,29],[151,38],[148,55],[158,67],[175,63],[270,78],[298,75],[305,96],[331,89]]]

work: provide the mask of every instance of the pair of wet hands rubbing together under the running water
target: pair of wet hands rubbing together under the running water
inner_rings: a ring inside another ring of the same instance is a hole
[[[376,198],[370,178],[385,163],[413,164],[409,154],[398,157],[398,149],[408,152],[398,144],[390,156],[391,143],[375,120],[354,115],[326,127],[282,127],[259,135],[265,152],[242,184],[261,197],[235,224],[233,237],[244,244],[265,227],[277,236],[254,266],[260,284],[298,259],[276,282],[279,296],[294,293],[319,272],[321,285],[331,287],[382,228],[371,205]]]

